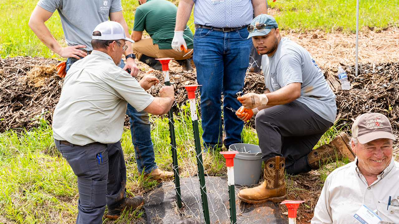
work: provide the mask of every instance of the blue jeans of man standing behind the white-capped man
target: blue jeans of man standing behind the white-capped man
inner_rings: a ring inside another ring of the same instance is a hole
[[[75,58],[68,58],[65,71],[77,61]],[[120,68],[125,63],[120,60]],[[151,124],[150,116],[144,110],[138,112],[132,105],[127,104],[126,114],[129,116],[130,133],[132,134],[132,143],[134,145],[134,154],[136,157],[137,171],[144,174],[150,173],[153,169],[158,168],[155,162],[154,147],[151,140]]]

